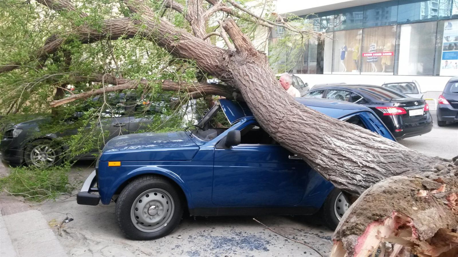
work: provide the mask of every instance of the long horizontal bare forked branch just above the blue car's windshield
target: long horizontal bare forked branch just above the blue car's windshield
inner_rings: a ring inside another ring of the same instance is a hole
[[[218,95],[224,96],[229,99],[233,99],[236,96],[235,90],[230,86],[221,84],[211,83],[189,83],[189,82],[175,82],[171,80],[130,80],[117,78],[110,74],[105,75],[91,75],[91,76],[70,76],[68,82],[65,83],[76,83],[76,82],[103,82],[104,84],[110,84],[114,86],[104,86],[102,88],[93,89],[91,91],[74,94],[65,97],[60,100],[51,102],[51,107],[57,107],[65,103],[73,102],[76,100],[87,99],[91,96],[101,95],[104,93],[121,91],[121,90],[132,90],[138,88],[138,86],[149,86],[150,84],[161,84],[163,91],[180,91],[192,93],[193,98],[199,98],[207,95]]]

